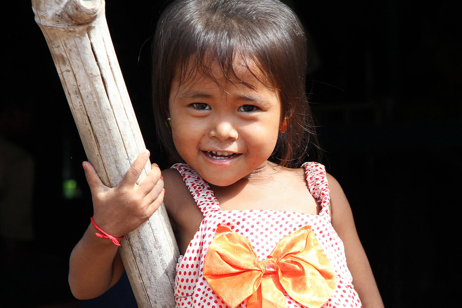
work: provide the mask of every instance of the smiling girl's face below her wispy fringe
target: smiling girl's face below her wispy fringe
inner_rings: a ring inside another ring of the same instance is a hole
[[[256,66],[250,66],[265,80]],[[228,186],[267,166],[278,138],[279,91],[260,82],[247,66],[234,66],[239,79],[227,80],[218,63],[215,82],[200,73],[170,89],[173,141],[180,156],[206,181]],[[257,174],[257,173],[255,173]]]

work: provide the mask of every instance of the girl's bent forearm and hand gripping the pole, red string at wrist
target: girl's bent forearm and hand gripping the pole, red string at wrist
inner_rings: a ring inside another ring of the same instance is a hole
[[[93,220],[104,232],[122,237],[144,223],[157,210],[164,198],[164,181],[157,164],[145,179],[136,184],[149,159],[149,151],[141,153],[117,187],[101,183],[91,163],[84,162],[85,175],[93,200]],[[124,267],[116,246],[92,224],[71,253],[69,285],[73,295],[89,299],[103,294],[122,276]]]

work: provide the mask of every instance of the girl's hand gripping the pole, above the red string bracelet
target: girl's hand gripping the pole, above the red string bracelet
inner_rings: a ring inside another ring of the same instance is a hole
[[[89,162],[84,162],[85,176],[93,200],[93,219],[106,233],[122,237],[138,228],[157,210],[164,199],[164,181],[156,163],[140,184],[140,177],[149,151],[143,151],[128,169],[117,187],[105,186]]]

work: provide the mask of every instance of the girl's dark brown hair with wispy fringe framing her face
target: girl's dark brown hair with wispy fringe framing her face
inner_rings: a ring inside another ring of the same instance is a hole
[[[213,60],[225,76],[231,73],[230,79],[236,79],[233,60],[240,63],[243,58],[256,63],[280,91],[281,119],[288,120],[287,131],[279,134],[268,160],[298,168],[311,150],[316,152],[318,142],[305,94],[306,37],[298,17],[285,4],[278,0],[176,0],[158,20],[152,49],[156,129],[174,160],[182,159],[165,123],[175,74],[180,72],[180,78],[187,79],[201,72],[213,78],[209,69]],[[237,54],[241,57],[234,59]],[[188,70],[191,63],[195,69]]]

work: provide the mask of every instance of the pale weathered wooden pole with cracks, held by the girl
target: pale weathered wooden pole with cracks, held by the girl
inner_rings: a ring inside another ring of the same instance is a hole
[[[89,161],[115,187],[145,145],[109,36],[104,0],[32,0]],[[140,179],[151,168],[146,164]],[[164,205],[120,249],[140,307],[174,307],[179,255]]]

